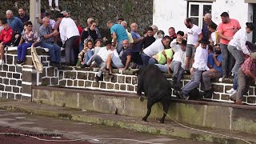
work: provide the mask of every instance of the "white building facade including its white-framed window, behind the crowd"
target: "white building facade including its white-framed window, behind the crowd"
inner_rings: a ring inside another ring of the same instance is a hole
[[[168,34],[170,27],[176,32],[186,30],[184,19],[188,17],[202,28],[206,13],[212,14],[213,22],[218,25],[222,22],[220,14],[225,11],[242,27],[246,22],[256,22],[256,0],[154,0],[153,23]],[[248,40],[255,42],[255,34],[250,34]]]

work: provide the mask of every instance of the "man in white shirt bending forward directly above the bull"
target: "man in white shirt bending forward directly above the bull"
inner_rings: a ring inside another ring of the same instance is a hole
[[[146,49],[142,51],[141,57],[142,57],[142,62],[143,66],[146,66],[149,64],[150,58],[154,54],[158,54],[158,52],[165,50],[169,48],[170,46],[170,37],[165,36],[164,38],[160,38],[153,42],[150,46],[148,46]]]

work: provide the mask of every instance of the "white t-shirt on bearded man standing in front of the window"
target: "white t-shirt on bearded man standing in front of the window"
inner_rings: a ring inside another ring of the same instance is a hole
[[[190,45],[195,45],[198,42],[199,34],[202,33],[202,30],[196,26],[193,25],[191,29],[187,28],[186,29],[186,34],[187,34],[187,44]]]

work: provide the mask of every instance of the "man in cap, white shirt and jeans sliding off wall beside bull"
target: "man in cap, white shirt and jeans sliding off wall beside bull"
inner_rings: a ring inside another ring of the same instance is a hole
[[[194,54],[194,64],[192,65],[194,73],[191,81],[182,87],[182,91],[178,91],[178,97],[182,99],[190,98],[190,91],[197,88],[202,79],[202,73],[206,70],[210,70],[207,66],[208,62],[208,45],[209,41],[202,39],[198,46],[196,53]]]

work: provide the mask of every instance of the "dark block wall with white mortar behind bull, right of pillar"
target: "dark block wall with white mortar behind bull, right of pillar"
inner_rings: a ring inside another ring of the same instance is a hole
[[[45,58],[46,59],[46,58]],[[48,63],[48,62],[47,62]],[[136,93],[138,78],[134,75],[133,71],[123,70],[122,73],[119,70],[113,70],[114,78],[110,79],[104,76],[103,81],[95,82],[94,77],[97,74],[98,68],[78,68],[78,67],[67,67],[64,70],[57,70],[52,66],[46,66],[42,73],[42,85],[43,86],[61,86],[78,89],[89,89],[89,90],[107,90],[113,92],[128,92]],[[171,81],[172,76],[166,78]],[[190,82],[190,76],[185,75],[182,79],[182,86]],[[39,82],[40,83],[40,82]],[[212,98],[207,100],[217,102],[231,102],[230,94],[226,94],[226,90],[232,88],[232,80],[229,78],[214,79],[212,86],[214,88],[214,94]],[[201,85],[199,86],[201,90]],[[256,105],[255,91],[256,86],[250,86],[249,92],[245,95],[243,102],[250,105]],[[175,97],[174,94],[172,94]]]

